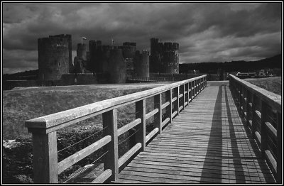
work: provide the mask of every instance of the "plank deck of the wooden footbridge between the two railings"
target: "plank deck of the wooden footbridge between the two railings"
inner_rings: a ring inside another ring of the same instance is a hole
[[[208,86],[119,173],[117,183],[273,183],[229,86]]]

